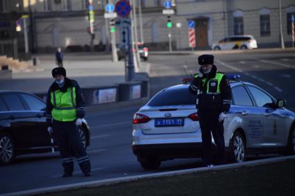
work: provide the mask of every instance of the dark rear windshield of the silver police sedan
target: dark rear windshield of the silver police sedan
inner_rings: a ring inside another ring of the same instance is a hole
[[[196,96],[189,93],[189,89],[166,89],[158,93],[149,106],[163,106],[163,105],[194,105],[196,102]]]

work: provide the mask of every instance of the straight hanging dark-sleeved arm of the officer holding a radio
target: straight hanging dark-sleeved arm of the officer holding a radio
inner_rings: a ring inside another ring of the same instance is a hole
[[[226,79],[226,75],[221,79],[220,91],[222,98],[222,112],[228,112],[230,110],[230,102],[232,100],[230,84]]]

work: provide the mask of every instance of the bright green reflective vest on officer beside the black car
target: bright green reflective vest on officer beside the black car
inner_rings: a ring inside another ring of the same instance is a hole
[[[56,121],[76,120],[76,88],[69,87],[66,92],[60,90],[51,92],[52,118]]]

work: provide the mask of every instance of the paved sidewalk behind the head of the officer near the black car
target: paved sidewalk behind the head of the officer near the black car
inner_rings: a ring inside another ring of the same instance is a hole
[[[54,55],[36,55],[35,71],[12,73],[12,80],[0,80],[0,90],[20,90],[30,93],[47,92],[53,82],[51,70],[56,67]],[[125,82],[124,60],[112,62],[110,55],[94,53],[65,54],[67,77],[77,80],[81,88],[106,87]],[[139,71],[146,71],[142,63]]]

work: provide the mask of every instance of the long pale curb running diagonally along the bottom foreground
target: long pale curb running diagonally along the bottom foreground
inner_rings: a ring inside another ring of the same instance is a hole
[[[10,196],[10,195],[40,195],[44,193],[58,193],[61,191],[67,191],[67,190],[74,190],[78,188],[93,188],[93,187],[99,187],[99,186],[106,186],[110,184],[118,184],[121,182],[128,182],[128,181],[137,181],[140,179],[151,179],[151,178],[157,178],[157,177],[171,177],[176,175],[187,175],[192,173],[198,173],[198,172],[205,172],[205,171],[212,171],[212,170],[226,170],[230,168],[242,168],[242,167],[250,167],[250,166],[258,166],[258,165],[264,165],[267,163],[276,163],[280,161],[286,161],[286,160],[292,160],[295,159],[294,156],[288,156],[288,157],[275,157],[270,159],[261,159],[261,160],[255,160],[255,161],[247,161],[243,163],[231,163],[227,165],[222,166],[214,166],[213,168],[192,168],[187,170],[177,170],[177,171],[171,171],[171,172],[158,172],[153,173],[149,175],[137,175],[133,177],[119,177],[114,179],[103,179],[103,180],[97,180],[97,181],[87,181],[77,184],[67,184],[62,186],[51,186],[46,188],[37,188],[32,190],[24,190],[19,191],[15,193],[6,193],[1,194],[0,196]]]

